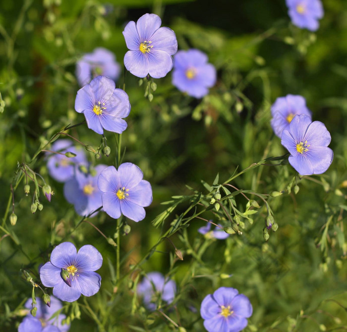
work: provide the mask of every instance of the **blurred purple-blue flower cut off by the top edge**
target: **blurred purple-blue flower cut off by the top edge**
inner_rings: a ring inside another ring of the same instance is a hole
[[[324,15],[320,0],[286,0],[291,22],[299,28],[316,31]]]

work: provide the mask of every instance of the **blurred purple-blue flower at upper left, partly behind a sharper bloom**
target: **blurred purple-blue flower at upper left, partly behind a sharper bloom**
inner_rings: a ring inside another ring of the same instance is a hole
[[[103,47],[86,53],[76,64],[76,76],[80,86],[88,84],[92,78],[103,75],[117,80],[120,66],[115,55]]]

